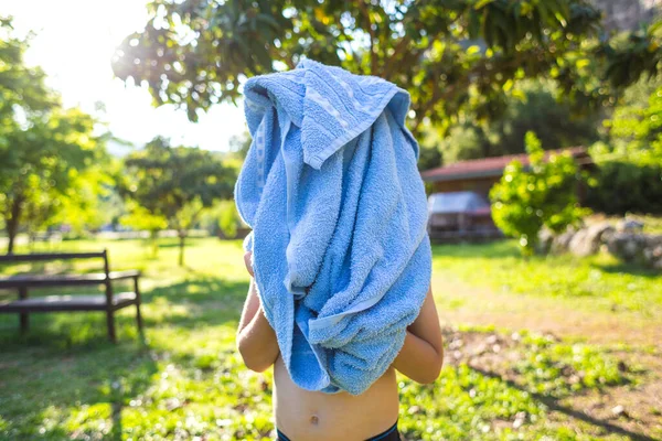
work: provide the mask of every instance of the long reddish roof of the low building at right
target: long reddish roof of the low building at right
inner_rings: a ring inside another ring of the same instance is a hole
[[[548,157],[552,153],[562,153],[569,151],[570,154],[577,159],[583,160],[580,163],[590,162],[586,148],[584,147],[570,147],[567,149],[548,150],[545,155]],[[455,181],[468,178],[491,178],[501,176],[503,170],[512,160],[519,160],[524,165],[528,164],[528,155],[524,154],[509,154],[505,157],[495,158],[482,158],[474,159],[471,161],[460,161],[449,165],[439,166],[437,169],[429,169],[420,172],[424,181]],[[588,159],[588,161],[586,161]]]

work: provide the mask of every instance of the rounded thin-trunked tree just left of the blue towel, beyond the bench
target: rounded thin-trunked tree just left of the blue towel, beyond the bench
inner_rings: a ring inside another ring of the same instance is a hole
[[[179,265],[184,265],[184,245],[204,208],[231,198],[236,171],[214,153],[196,148],[171,147],[157,137],[125,161],[127,176],[121,193],[156,218],[162,217],[179,237]]]

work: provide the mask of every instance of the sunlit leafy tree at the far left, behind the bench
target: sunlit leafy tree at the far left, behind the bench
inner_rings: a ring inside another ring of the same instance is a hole
[[[52,107],[29,115],[25,128],[6,126],[0,146],[0,215],[13,252],[21,225],[31,232],[62,220],[65,208],[78,217],[96,200],[104,138],[94,135],[95,120],[79,109]],[[94,169],[97,173],[87,173]]]

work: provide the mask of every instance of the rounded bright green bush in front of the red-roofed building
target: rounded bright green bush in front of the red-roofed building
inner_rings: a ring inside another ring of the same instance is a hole
[[[499,228],[519,238],[522,252],[531,255],[543,226],[564,232],[587,213],[577,203],[577,165],[573,157],[545,153],[535,133],[526,133],[528,168],[511,162],[490,191],[492,216]]]

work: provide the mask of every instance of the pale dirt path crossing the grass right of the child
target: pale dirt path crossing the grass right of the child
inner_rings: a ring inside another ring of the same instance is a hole
[[[441,278],[433,279],[442,324],[494,325],[581,338],[596,344],[660,347],[662,324],[641,314],[575,309],[567,299],[493,292]]]

